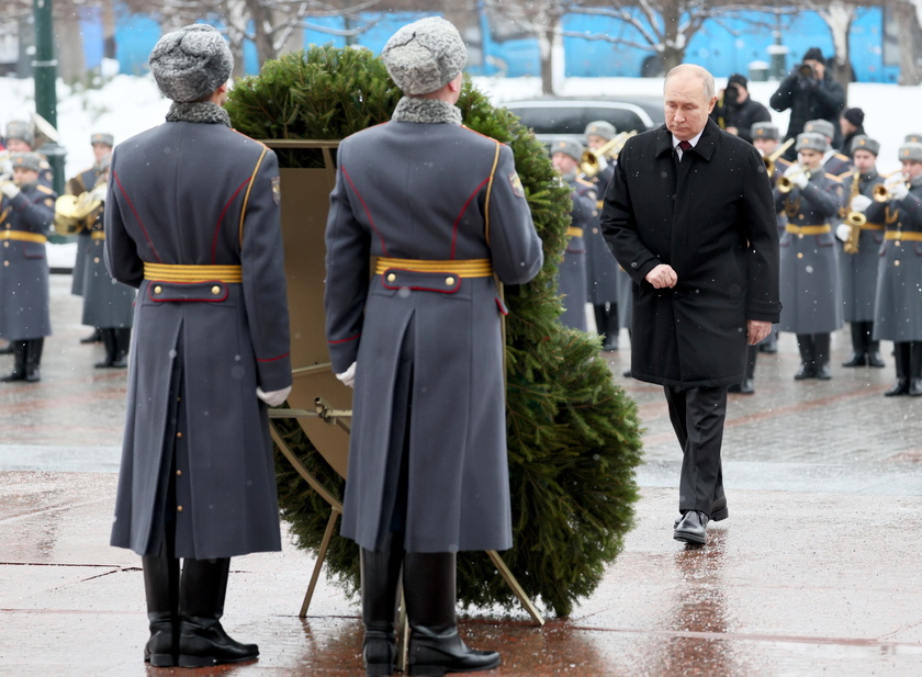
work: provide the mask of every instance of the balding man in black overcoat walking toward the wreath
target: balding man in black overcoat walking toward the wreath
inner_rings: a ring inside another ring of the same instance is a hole
[[[684,451],[674,538],[702,544],[728,516],[727,386],[779,318],[778,230],[758,151],[708,119],[713,77],[677,66],[664,99],[666,123],[625,144],[600,223],[634,281],[631,375],[664,386]]]

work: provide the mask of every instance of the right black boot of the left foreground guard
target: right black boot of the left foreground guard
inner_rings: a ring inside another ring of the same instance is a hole
[[[240,644],[221,627],[231,560],[191,560],[179,585],[179,667],[243,663],[259,656],[256,644]]]

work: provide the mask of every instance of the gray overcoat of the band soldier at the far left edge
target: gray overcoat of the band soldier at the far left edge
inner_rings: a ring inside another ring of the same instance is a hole
[[[55,219],[55,193],[40,182],[10,200],[0,195],[0,230],[47,237]],[[5,235],[4,235],[5,237]],[[52,334],[48,259],[45,242],[3,239],[0,244],[0,337],[14,341]]]

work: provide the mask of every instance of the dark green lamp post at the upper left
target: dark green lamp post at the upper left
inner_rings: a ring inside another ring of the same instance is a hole
[[[52,0],[33,0],[35,18],[35,58],[32,61],[35,78],[35,112],[57,129],[57,59],[55,58],[54,20]],[[42,154],[48,158],[54,173],[54,189],[64,193],[64,156],[67,151],[55,139],[42,145]]]

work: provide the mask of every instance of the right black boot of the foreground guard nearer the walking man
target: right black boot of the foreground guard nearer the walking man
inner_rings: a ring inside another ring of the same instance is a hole
[[[414,677],[488,670],[495,651],[468,648],[458,634],[454,553],[406,553],[404,599],[409,619],[407,670]]]

